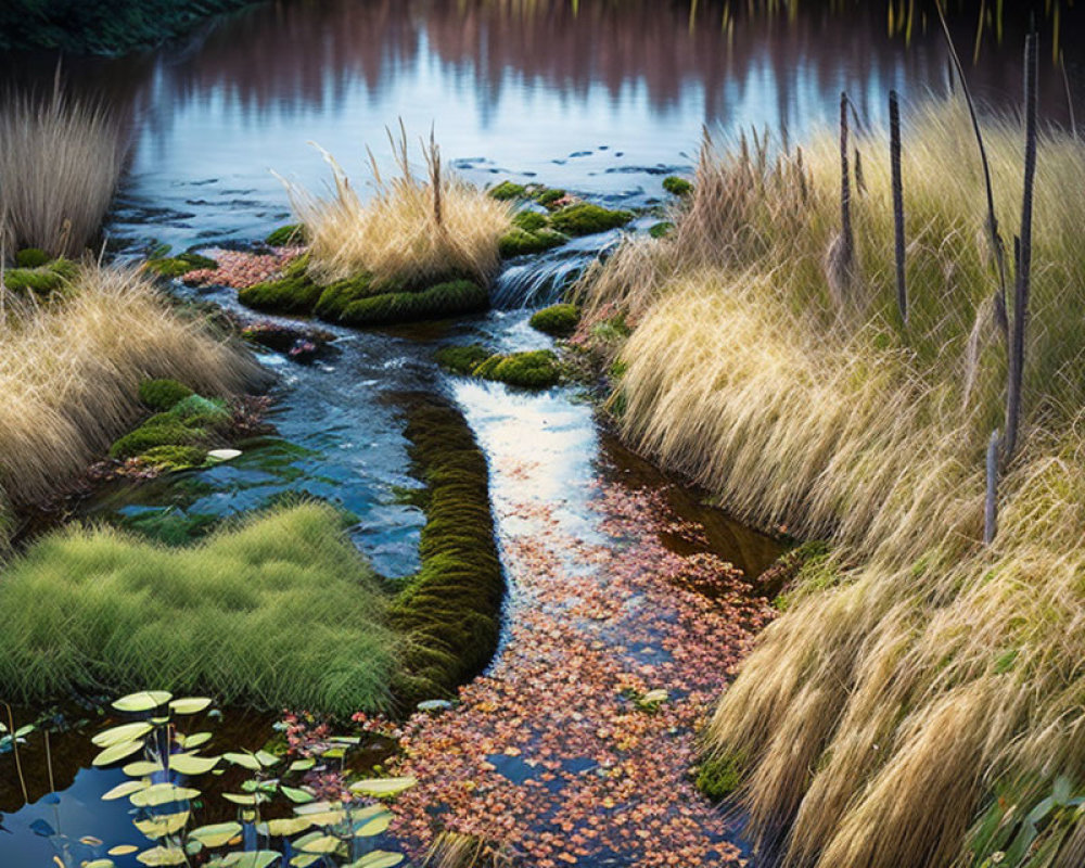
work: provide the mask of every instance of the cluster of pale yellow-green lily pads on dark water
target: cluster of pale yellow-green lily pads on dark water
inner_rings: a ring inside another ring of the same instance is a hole
[[[264,750],[202,755],[201,748],[213,733],[184,733],[181,724],[186,718],[209,718],[214,713],[210,705],[206,698],[174,699],[156,690],[113,703],[117,712],[135,719],[93,737],[102,749],[93,763],[124,763],[128,780],[102,799],[127,799],[132,824],[149,845],[143,850],[130,844],[111,847],[106,858],[84,868],[113,868],[108,857],[132,854],[146,866],[188,866],[195,859],[206,868],[392,868],[403,861],[403,854],[374,850],[368,839],[385,832],[392,822],[393,815],[382,800],[412,787],[413,778],[358,780],[349,784],[346,799],[321,801],[297,779],[322,764],[339,763],[342,770],[346,752],[358,743],[357,738],[331,738],[316,755],[292,762]],[[222,775],[228,766],[251,773],[241,783],[241,792],[221,795],[238,806],[237,818],[197,826],[193,815],[205,795],[195,779]],[[276,801],[290,806],[289,816],[265,816],[264,806]]]

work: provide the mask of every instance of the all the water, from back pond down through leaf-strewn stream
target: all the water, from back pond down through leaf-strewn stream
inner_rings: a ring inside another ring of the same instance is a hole
[[[660,205],[662,178],[692,169],[703,125],[729,136],[767,126],[797,140],[833,116],[842,88],[871,122],[885,114],[891,88],[944,91],[937,35],[891,38],[877,5],[846,21],[816,8],[740,18],[728,36],[723,4],[712,2],[699,11],[648,0],[275,2],[141,55],[64,64],[130,120],[129,167],[106,228],[110,250],[135,260],[156,242],[214,250],[265,237],[290,218],[272,169],[318,189],[328,179],[308,144],[318,142],[360,182],[366,144],[391,165],[384,128],[399,119],[412,137],[432,126],[448,162],[475,183],[533,180],[611,207]],[[967,23],[955,27],[971,34]],[[981,99],[1016,99],[1018,44],[1014,36],[985,46],[973,71]],[[1077,93],[1080,61],[1071,52]],[[0,65],[17,86],[40,86],[55,62]],[[1061,78],[1046,77],[1042,99],[1046,116],[1065,116]],[[552,347],[529,328],[532,311],[620,240],[593,235],[508,263],[485,315],[369,332],[329,327],[331,352],[309,365],[261,354],[277,374],[273,435],[207,470],[110,483],[72,516],[180,542],[308,494],[355,518],[352,536],[379,572],[410,575],[424,514],[403,496],[419,483],[397,396],[452,399],[488,460],[509,595],[490,668],[454,711],[405,725],[409,750],[396,770],[421,783],[400,800],[394,832],[412,856],[429,843],[433,816],[508,842],[509,858],[542,868],[750,856],[688,773],[697,727],[770,616],[743,575],[758,575],[780,544],[629,452],[578,387],[528,393],[447,374],[433,359],[448,343]],[[242,310],[233,291],[176,292]],[[652,690],[667,698],[648,713],[637,697]],[[29,804],[11,754],[0,753],[4,868],[78,866],[86,835],[139,843],[125,809],[99,801],[120,773],[90,767],[93,712],[66,715],[75,727],[58,735],[48,775],[40,736],[29,737]],[[253,733],[272,722],[228,710],[222,726],[255,749]],[[93,847],[84,846],[89,858]]]

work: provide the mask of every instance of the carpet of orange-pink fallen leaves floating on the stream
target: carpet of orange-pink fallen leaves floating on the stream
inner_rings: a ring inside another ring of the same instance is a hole
[[[545,469],[498,472],[531,492]],[[664,547],[675,524],[660,493],[598,486],[609,544],[563,533],[552,503],[510,505],[509,640],[454,711],[416,714],[401,736],[396,774],[420,783],[397,826],[414,855],[447,829],[538,868],[745,864],[689,771],[699,726],[771,610],[730,564]],[[658,711],[638,707],[656,689]]]

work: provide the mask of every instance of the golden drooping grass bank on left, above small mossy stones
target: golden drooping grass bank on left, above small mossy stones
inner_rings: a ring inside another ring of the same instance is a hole
[[[142,381],[227,396],[260,376],[137,272],[82,267],[66,296],[39,305],[0,292],[0,489],[15,503],[49,499],[104,456],[146,412]]]

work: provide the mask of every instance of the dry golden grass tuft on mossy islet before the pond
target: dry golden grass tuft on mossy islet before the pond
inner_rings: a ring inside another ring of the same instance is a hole
[[[310,242],[309,272],[320,283],[373,277],[375,284],[427,286],[450,277],[488,281],[500,265],[498,240],[512,208],[443,167],[432,136],[425,176],[411,168],[407,133],[388,133],[399,175],[385,179],[370,154],[375,194],[363,201],[343,167],[323,152],[335,195],[321,199],[283,181]]]

